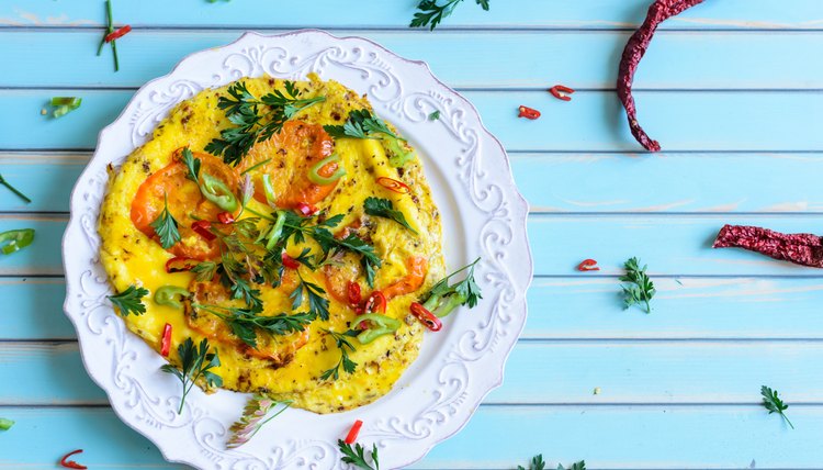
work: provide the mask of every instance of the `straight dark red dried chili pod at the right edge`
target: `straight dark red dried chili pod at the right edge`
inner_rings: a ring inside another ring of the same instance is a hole
[[[724,225],[712,248],[736,247],[796,265],[823,268],[823,239],[813,234],[782,234],[749,225]]]

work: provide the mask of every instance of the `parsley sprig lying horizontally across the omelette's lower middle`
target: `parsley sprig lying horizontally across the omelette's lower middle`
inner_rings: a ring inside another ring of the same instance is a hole
[[[312,312],[295,313],[293,315],[285,313],[261,315],[260,312],[256,312],[252,309],[198,303],[192,306],[225,321],[235,336],[255,349],[257,349],[257,332],[264,332],[273,336],[300,333],[317,317]]]

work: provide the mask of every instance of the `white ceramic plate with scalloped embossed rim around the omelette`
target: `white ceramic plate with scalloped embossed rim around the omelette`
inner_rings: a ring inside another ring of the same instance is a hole
[[[165,360],[131,334],[113,312],[99,261],[97,231],[106,166],[140,146],[169,109],[206,88],[263,74],[301,79],[315,71],[361,93],[394,123],[424,158],[444,223],[450,269],[476,257],[483,300],[426,335],[420,357],[386,396],[331,415],[289,410],[250,443],[227,450],[227,428],[248,395],[195,389],[176,413],[180,382],[161,373]],[[440,120],[427,116],[440,111]],[[65,310],[77,328],[89,374],[105,390],[124,423],[151,439],[164,456],[203,469],[338,468],[336,443],[354,419],[359,441],[380,448],[384,469],[407,466],[462,428],[483,398],[503,382],[503,369],[526,323],[531,255],[528,208],[511,178],[500,143],[469,101],[438,81],[421,61],[401,58],[360,37],[320,31],[244,34],[225,47],[193,54],[171,74],[146,83],[105,127],[94,157],[71,195],[64,236]]]

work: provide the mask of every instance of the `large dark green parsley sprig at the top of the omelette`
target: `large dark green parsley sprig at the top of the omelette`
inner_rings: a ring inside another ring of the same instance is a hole
[[[279,133],[296,113],[326,100],[326,97],[301,99],[302,92],[292,81],[284,81],[283,88],[285,92],[275,90],[258,99],[245,82],[230,86],[228,97],[221,97],[217,107],[235,126],[223,130],[221,138],[212,139],[205,150],[222,156],[226,164],[237,165],[256,143]]]

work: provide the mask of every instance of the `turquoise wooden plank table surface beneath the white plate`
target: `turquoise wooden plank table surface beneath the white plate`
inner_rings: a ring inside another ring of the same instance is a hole
[[[538,452],[590,469],[823,468],[823,271],[710,248],[724,223],[823,233],[823,2],[707,0],[665,23],[635,85],[655,156],[615,94],[649,2],[469,0],[430,33],[406,27],[413,0],[115,0],[134,26],[116,74],[94,55],[101,0],[0,2],[0,172],[33,199],[0,192],[0,231],[37,231],[0,259],[0,417],[16,422],[0,468],[55,468],[76,448],[90,468],[179,468],[82,368],[61,312],[69,191],[145,81],[244,31],[300,27],[427,60],[477,105],[531,204],[535,279],[505,384],[415,468],[512,469]],[[555,83],[574,99],[552,98]],[[83,104],[47,119],[53,96]],[[519,104],[542,119],[518,120]],[[651,315],[622,310],[631,256],[658,287]],[[585,258],[604,269],[577,272]],[[796,429],[759,404],[763,384]]]

